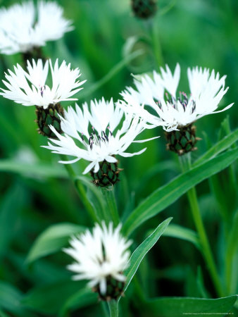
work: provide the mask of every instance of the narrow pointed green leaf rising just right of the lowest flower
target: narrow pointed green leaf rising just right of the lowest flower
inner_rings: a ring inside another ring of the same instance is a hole
[[[139,264],[141,261],[144,259],[144,256],[149,252],[149,250],[154,247],[154,244],[158,241],[158,239],[161,237],[165,229],[168,227],[168,224],[172,218],[168,218],[163,221],[154,232],[149,235],[149,237],[142,242],[142,244],[139,244],[139,247],[134,250],[132,253],[132,256],[130,257],[130,265],[129,267],[125,270],[124,274],[127,278],[126,283],[125,283],[125,289],[127,289],[128,285],[130,284],[134,274],[137,272],[137,269],[139,268]]]

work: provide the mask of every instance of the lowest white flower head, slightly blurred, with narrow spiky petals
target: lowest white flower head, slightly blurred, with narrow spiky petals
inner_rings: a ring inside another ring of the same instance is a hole
[[[73,280],[90,280],[89,287],[99,285],[101,294],[106,294],[106,278],[125,282],[123,271],[129,264],[130,251],[127,251],[131,241],[120,235],[121,224],[113,230],[113,223],[108,228],[102,223],[102,228],[96,224],[92,233],[87,230],[82,235],[70,240],[70,248],[63,249],[75,259],[68,266],[76,273]]]

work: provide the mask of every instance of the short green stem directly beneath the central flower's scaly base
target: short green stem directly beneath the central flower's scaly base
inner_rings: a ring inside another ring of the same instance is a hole
[[[110,215],[109,217],[107,216],[107,219],[110,219],[113,221],[113,225],[117,226],[118,223],[120,222],[120,218],[118,215],[118,207],[116,205],[115,201],[115,194],[114,194],[114,189],[106,189],[102,188],[101,189],[102,194],[104,195],[104,199],[106,201],[106,214]],[[105,219],[106,220],[106,219]],[[108,221],[106,221],[108,222]]]

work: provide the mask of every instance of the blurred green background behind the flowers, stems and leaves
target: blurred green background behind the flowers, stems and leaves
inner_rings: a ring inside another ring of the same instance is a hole
[[[14,3],[0,1],[1,6]],[[101,97],[113,97],[116,101],[125,86],[132,85],[131,73],[158,70],[165,63],[174,69],[177,62],[182,69],[181,90],[188,90],[187,67],[214,68],[220,75],[227,75],[226,84],[230,87],[220,106],[237,102],[237,1],[159,0],[158,13],[150,21],[134,17],[130,0],[62,0],[58,3],[63,6],[65,17],[73,20],[75,30],[58,42],[49,42],[43,51],[53,61],[65,59],[73,67],[80,68],[81,78],[87,82],[76,96],[78,104]],[[163,60],[156,58],[156,47],[157,52],[161,47]],[[139,57],[127,62],[138,50],[141,52]],[[4,79],[6,68],[12,69],[14,63],[21,63],[20,54],[1,55],[0,58],[1,79]],[[163,64],[158,65],[158,60]],[[92,223],[63,166],[57,163],[57,156],[39,147],[46,144],[46,139],[37,134],[35,108],[20,106],[4,98],[1,98],[0,107],[0,280],[10,287],[11,292],[18,294],[19,299],[27,294],[26,301],[34,290],[44,290],[40,293],[46,294],[44,298],[35,295],[27,302],[28,306],[37,307],[37,315],[27,312],[25,316],[56,316],[58,303],[82,285],[82,282],[70,281],[70,273],[65,270],[70,259],[57,253],[28,267],[25,258],[36,237],[49,225],[72,222],[91,226]],[[236,128],[236,107],[234,105],[226,113],[206,116],[196,123],[197,135],[202,140],[198,151],[192,154],[193,159],[203,154],[209,144],[217,142],[220,128],[221,135],[227,134],[227,128],[223,128],[227,125],[221,125],[227,115],[230,116],[231,129]],[[120,167],[124,170],[116,190],[121,214],[130,213],[139,201],[179,173],[177,157],[165,151],[163,130],[148,130],[142,137],[156,135],[161,135],[161,138],[146,144],[147,150],[142,156],[120,159]],[[132,150],[138,150],[138,147],[138,144],[132,145]],[[31,169],[31,166],[39,168]],[[74,166],[80,173],[84,163]],[[236,207],[236,193],[227,187],[229,173],[225,170],[218,177],[222,186],[222,203],[229,206],[232,213]],[[224,248],[224,232],[215,201],[216,193],[210,190],[207,181],[198,186],[198,192],[208,236],[221,267],[224,262],[220,256],[220,250]],[[168,216],[173,216],[173,223],[194,229],[187,198],[182,197],[156,219],[147,221],[133,239],[142,242],[148,231]],[[137,278],[147,297],[201,297],[196,284],[200,267],[204,268],[203,260],[192,244],[162,237],[142,262]],[[205,285],[213,296],[211,281],[206,270],[203,272]],[[130,294],[133,297],[136,287],[136,283],[130,286],[127,297],[123,299],[125,316],[146,316],[143,311],[139,312],[136,296],[134,301],[128,299]],[[4,296],[1,290],[4,289],[0,287],[0,302]],[[96,309],[99,307],[89,306],[77,313],[92,316]],[[18,316],[19,311],[20,308],[13,310],[12,316]]]

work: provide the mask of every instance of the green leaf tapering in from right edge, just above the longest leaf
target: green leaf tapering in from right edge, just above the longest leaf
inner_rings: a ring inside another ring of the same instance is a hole
[[[213,159],[213,157],[217,156],[220,152],[225,151],[226,149],[229,149],[229,147],[234,144],[234,142],[237,142],[238,140],[238,129],[234,130],[234,132],[230,133],[230,135],[227,135],[216,143],[211,149],[208,149],[205,154],[203,154],[199,159],[196,160],[196,162],[193,163],[193,167],[199,166],[204,161],[208,161],[210,159]]]

